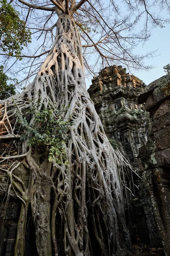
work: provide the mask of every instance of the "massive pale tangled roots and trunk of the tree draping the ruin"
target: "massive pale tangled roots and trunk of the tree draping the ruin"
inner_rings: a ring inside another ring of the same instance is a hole
[[[10,197],[21,204],[14,256],[24,255],[29,207],[38,255],[124,255],[130,249],[125,208],[133,190],[131,169],[111,147],[85,89],[81,42],[71,17],[59,17],[56,40],[34,81],[1,103],[4,211]],[[55,119],[55,109],[63,106],[63,119],[71,122],[63,144],[69,164],[62,157],[57,163],[57,155],[49,162],[48,146],[20,140],[26,131],[18,121],[20,116],[34,122],[32,109],[50,109]]]

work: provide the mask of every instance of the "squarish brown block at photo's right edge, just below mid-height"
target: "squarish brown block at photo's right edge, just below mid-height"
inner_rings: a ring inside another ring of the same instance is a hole
[[[154,132],[156,150],[170,148],[170,126]]]

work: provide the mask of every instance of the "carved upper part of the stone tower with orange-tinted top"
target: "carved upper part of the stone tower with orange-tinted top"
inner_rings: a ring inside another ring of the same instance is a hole
[[[132,166],[141,169],[139,148],[147,142],[149,115],[137,102],[146,85],[122,66],[105,67],[88,89],[110,140],[116,140]]]

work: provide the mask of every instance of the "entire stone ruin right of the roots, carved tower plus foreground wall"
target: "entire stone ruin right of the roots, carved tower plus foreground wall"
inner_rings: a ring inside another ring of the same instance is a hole
[[[92,79],[91,99],[113,147],[140,175],[129,229],[170,255],[170,76],[146,86],[122,66],[105,67]],[[135,237],[136,235],[136,237]],[[164,254],[161,254],[164,255]]]

